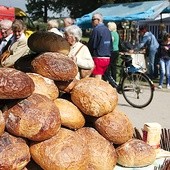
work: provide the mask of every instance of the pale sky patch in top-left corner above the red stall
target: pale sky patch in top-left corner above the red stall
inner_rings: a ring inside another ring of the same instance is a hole
[[[25,3],[26,3],[25,0],[0,0],[0,5],[18,7],[24,11],[26,10]]]

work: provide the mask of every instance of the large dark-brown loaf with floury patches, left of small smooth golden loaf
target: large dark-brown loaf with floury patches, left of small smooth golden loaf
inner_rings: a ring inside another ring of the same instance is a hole
[[[32,94],[4,112],[6,129],[13,135],[42,141],[60,129],[60,113],[55,103],[41,94]]]

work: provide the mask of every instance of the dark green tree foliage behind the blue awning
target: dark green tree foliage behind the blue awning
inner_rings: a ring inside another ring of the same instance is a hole
[[[142,1],[142,0],[136,0]],[[94,11],[101,5],[107,3],[136,2],[135,0],[27,0],[27,12],[33,20],[42,19],[47,22],[48,11],[61,13],[67,8],[71,17],[78,18]],[[149,0],[148,0],[149,1]]]

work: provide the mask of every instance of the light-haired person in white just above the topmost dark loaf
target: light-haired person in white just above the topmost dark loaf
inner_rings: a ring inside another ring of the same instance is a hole
[[[57,20],[52,19],[47,22],[47,31],[48,32],[54,32],[57,35],[60,35],[63,37],[63,34],[58,30],[59,23]]]

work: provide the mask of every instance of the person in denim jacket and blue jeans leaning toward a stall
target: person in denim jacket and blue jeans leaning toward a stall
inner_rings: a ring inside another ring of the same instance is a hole
[[[156,37],[147,29],[147,26],[139,27],[139,34],[141,40],[137,49],[146,48],[146,55],[148,57],[149,77],[154,78],[155,56],[158,51],[159,43]]]

